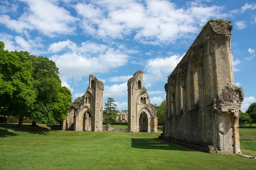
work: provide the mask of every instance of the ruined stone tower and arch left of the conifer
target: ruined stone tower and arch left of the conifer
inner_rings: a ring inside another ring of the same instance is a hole
[[[82,104],[71,104],[61,129],[102,132],[103,90],[103,82],[90,74]]]

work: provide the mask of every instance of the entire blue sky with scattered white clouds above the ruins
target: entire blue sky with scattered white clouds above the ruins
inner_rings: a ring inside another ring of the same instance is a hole
[[[167,76],[210,17],[234,25],[234,79],[245,111],[256,102],[255,1],[0,0],[0,40],[5,49],[55,61],[73,99],[93,74],[104,82],[104,103],[113,97],[126,110],[126,83],[137,70],[151,103],[165,99]]]

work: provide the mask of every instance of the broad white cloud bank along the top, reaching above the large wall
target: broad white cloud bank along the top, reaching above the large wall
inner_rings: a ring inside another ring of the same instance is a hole
[[[134,39],[146,44],[174,43],[180,37],[197,34],[209,16],[229,15],[221,12],[223,6],[194,2],[180,8],[160,0],[91,1],[78,3],[75,9],[88,34],[123,39],[135,33]]]

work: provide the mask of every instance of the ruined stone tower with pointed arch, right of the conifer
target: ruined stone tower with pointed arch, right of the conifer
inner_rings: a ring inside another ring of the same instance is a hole
[[[143,71],[128,80],[128,132],[157,132],[156,109],[142,81]]]

